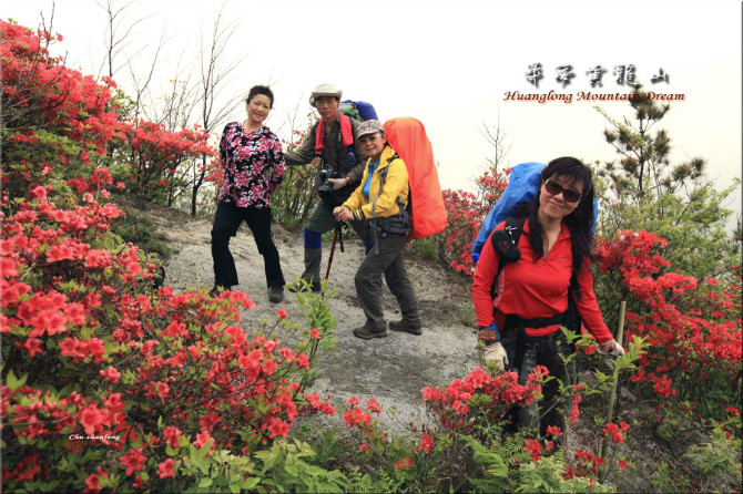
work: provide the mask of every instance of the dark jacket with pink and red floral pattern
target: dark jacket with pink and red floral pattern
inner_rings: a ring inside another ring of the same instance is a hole
[[[271,193],[284,181],[286,167],[282,143],[268,127],[247,132],[240,122],[222,133],[220,157],[224,181],[220,200],[237,207],[271,207]]]

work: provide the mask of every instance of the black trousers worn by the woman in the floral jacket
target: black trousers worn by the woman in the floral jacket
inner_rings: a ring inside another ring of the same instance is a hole
[[[258,253],[263,255],[266,271],[266,285],[283,287],[284,274],[278,260],[278,250],[271,236],[271,208],[237,207],[232,203],[220,202],[216,205],[214,226],[212,227],[212,258],[214,259],[214,284],[222,287],[238,285],[235,259],[230,251],[230,238],[237,235],[240,225],[245,222],[253,231]]]

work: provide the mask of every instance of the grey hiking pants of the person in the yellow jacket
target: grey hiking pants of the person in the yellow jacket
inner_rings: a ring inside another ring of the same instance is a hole
[[[420,328],[418,300],[413,291],[403,260],[403,249],[407,237],[381,237],[377,239],[379,254],[370,250],[356,271],[356,296],[366,315],[366,327],[380,331],[386,329],[385,315],[381,310],[379,296],[381,291],[381,276],[385,276],[387,286],[397,298],[400,306],[403,321],[413,328]]]

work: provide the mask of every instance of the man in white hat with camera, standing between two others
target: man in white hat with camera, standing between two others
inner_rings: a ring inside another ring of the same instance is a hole
[[[319,290],[319,267],[323,257],[322,237],[338,224],[333,208],[350,196],[364,175],[364,153],[356,135],[358,122],[339,112],[340,91],[335,84],[319,84],[309,96],[309,104],[322,116],[309,132],[307,141],[293,153],[285,153],[289,166],[308,165],[320,158],[320,171],[315,188],[320,200],[309,217],[304,230],[305,271],[302,279],[312,282],[313,291]],[[349,222],[362,239],[365,239],[363,222]],[[366,239],[365,239],[366,244]]]

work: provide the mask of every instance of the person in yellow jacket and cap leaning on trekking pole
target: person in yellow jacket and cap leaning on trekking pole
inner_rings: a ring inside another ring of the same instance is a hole
[[[350,197],[333,210],[338,222],[367,220],[374,247],[356,271],[356,295],[366,322],[354,330],[363,339],[387,336],[385,315],[379,302],[381,276],[397,298],[403,319],[390,321],[389,329],[411,335],[423,333],[418,300],[405,269],[403,249],[410,227],[405,206],[408,202],[408,171],[405,162],[387,145],[378,120],[358,127],[357,140],[368,156],[360,185]]]

